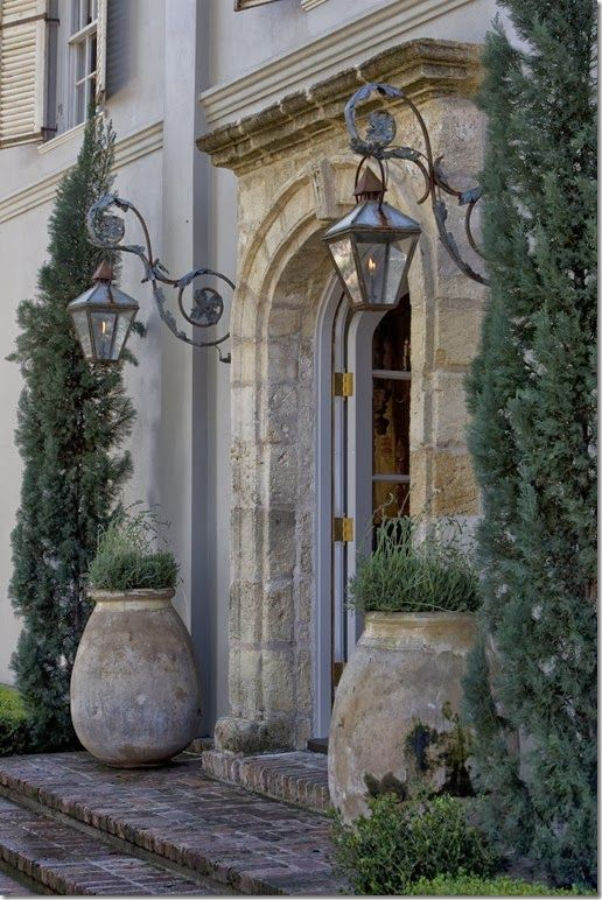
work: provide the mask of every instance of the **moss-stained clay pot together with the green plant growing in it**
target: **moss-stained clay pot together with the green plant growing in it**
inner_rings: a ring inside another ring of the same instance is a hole
[[[470,793],[461,679],[475,639],[478,578],[454,520],[386,519],[349,584],[365,628],[337,687],[331,799],[346,821],[370,795]]]

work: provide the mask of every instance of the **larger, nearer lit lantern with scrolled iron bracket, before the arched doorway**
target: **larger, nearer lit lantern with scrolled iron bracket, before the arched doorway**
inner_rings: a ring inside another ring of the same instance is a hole
[[[424,140],[424,151],[413,147],[392,146],[396,134],[393,116],[386,110],[372,111],[365,138],[356,124],[356,107],[374,93],[397,99],[414,114]],[[390,84],[367,84],[348,100],[345,122],[351,149],[361,156],[355,175],[355,208],[332,225],[323,235],[337,273],[354,309],[385,309],[397,306],[407,291],[408,271],[420,238],[418,222],[384,202],[387,190],[388,160],[412,162],[424,176],[422,204],[430,198],[437,231],[443,246],[457,267],[473,281],[488,284],[487,278],[463,259],[454,236],[446,228],[447,207],[443,194],[456,197],[466,205],[466,235],[472,249],[482,255],[471,232],[471,216],[481,197],[481,188],[458,191],[451,187],[441,168],[441,157],[433,155],[426,123],[415,104],[399,88]],[[378,165],[380,178],[365,168],[367,160]],[[363,171],[362,171],[363,170]]]

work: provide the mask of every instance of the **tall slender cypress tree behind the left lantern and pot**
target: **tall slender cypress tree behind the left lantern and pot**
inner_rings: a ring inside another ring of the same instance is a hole
[[[38,298],[18,308],[12,355],[25,386],[16,443],[23,458],[21,506],[12,534],[10,594],[23,627],[12,666],[35,745],[69,747],[69,681],[89,614],[85,574],[131,470],[116,454],[134,409],[119,367],[82,357],[67,304],[91,284],[102,251],[87,238],[86,212],[111,184],[114,134],[91,116],[75,166],[63,178],[49,222],[49,262]]]

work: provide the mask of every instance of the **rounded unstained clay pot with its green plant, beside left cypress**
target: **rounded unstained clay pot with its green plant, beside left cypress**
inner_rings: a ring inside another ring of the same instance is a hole
[[[94,609],[71,677],[71,717],[83,746],[113,766],[157,765],[200,724],[190,636],[172,605],[173,553],[154,510],[136,504],[100,536],[88,573]]]

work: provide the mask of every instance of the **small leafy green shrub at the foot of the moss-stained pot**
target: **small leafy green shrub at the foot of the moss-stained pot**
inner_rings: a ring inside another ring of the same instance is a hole
[[[371,815],[345,826],[335,819],[338,865],[356,894],[405,894],[419,878],[488,875],[496,857],[466,821],[461,801],[449,796],[400,803],[394,796],[369,801]]]

